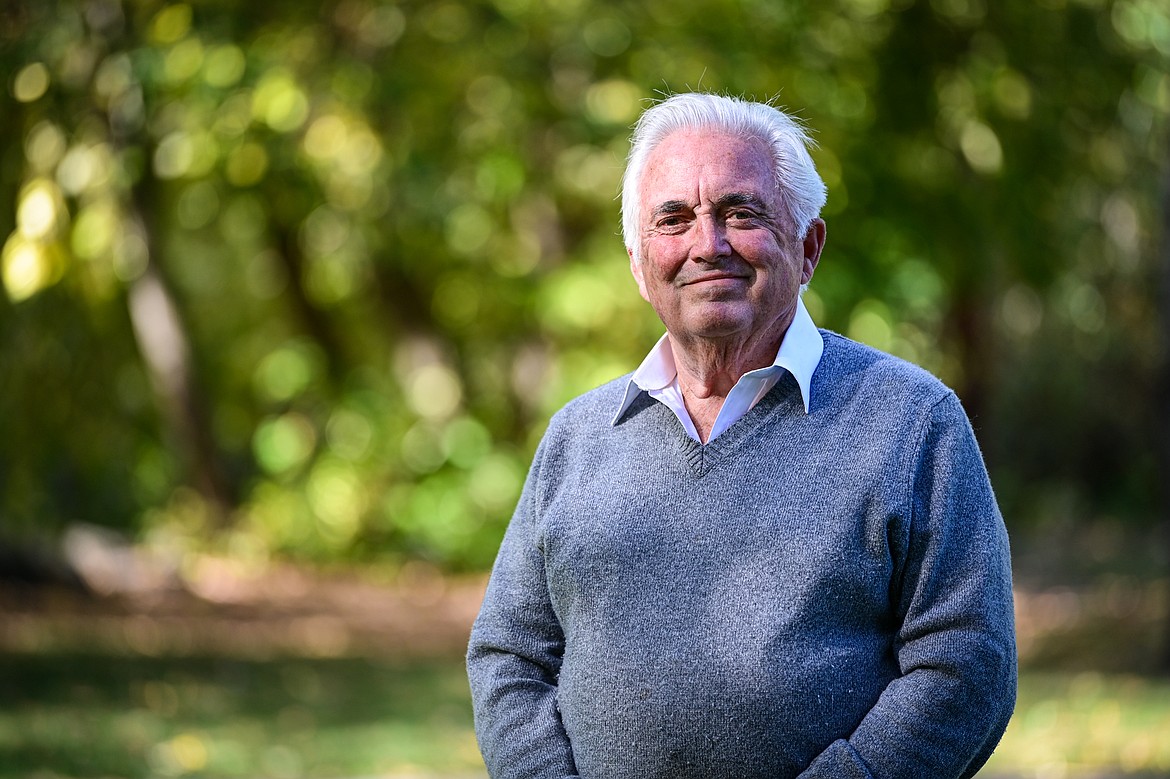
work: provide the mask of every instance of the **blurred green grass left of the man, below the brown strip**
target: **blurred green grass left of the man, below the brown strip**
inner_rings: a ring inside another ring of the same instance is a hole
[[[0,777],[477,775],[462,666],[0,655]]]

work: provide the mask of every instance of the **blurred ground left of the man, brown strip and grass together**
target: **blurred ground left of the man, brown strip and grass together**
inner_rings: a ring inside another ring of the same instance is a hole
[[[482,777],[482,588],[218,560],[164,587],[0,587],[0,779]]]

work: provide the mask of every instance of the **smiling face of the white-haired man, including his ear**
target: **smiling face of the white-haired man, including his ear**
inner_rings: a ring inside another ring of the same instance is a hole
[[[647,159],[638,197],[642,297],[674,339],[779,340],[812,278],[824,222],[808,237],[780,204],[768,146],[682,130]]]

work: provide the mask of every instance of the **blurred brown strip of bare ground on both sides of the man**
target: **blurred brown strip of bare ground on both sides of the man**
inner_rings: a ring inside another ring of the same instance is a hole
[[[454,656],[466,648],[484,584],[483,577],[442,577],[426,566],[378,581],[291,566],[249,573],[208,558],[184,581],[149,590],[2,587],[0,650]],[[1168,590],[1165,578],[1122,574],[1079,584],[1021,578],[1016,592],[1021,666],[1155,670]]]

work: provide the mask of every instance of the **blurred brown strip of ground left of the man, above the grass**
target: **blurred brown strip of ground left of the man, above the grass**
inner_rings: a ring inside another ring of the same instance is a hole
[[[146,656],[386,657],[462,654],[483,577],[426,566],[393,580],[291,566],[245,572],[204,559],[185,579],[87,593],[0,588],[0,652],[105,649]]]

